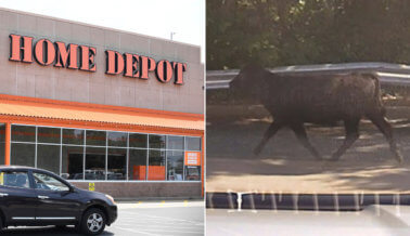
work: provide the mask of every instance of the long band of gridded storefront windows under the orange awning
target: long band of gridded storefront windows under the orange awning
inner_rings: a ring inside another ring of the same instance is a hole
[[[4,131],[0,123],[0,163]],[[185,166],[184,155],[201,148],[201,137],[12,124],[11,165],[73,181],[198,181],[201,167]]]

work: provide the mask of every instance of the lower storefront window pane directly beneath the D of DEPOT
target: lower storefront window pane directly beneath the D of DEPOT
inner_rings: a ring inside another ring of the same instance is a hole
[[[108,172],[106,174],[108,181],[127,179],[127,149],[126,148],[108,148]]]

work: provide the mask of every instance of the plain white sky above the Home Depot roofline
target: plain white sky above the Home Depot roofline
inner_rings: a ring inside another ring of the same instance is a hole
[[[205,0],[0,0],[31,12],[201,45],[205,62]]]

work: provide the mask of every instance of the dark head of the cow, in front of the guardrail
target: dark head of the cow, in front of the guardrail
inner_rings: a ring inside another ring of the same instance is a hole
[[[231,80],[229,88],[236,94],[254,95],[253,93],[261,86],[266,73],[267,70],[260,65],[248,64]]]

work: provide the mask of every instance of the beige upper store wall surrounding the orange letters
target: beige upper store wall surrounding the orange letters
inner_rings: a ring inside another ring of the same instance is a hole
[[[0,23],[1,94],[204,114],[200,47],[4,9]],[[10,34],[94,47],[97,71],[10,62]],[[187,63],[184,84],[105,75],[105,50]]]

